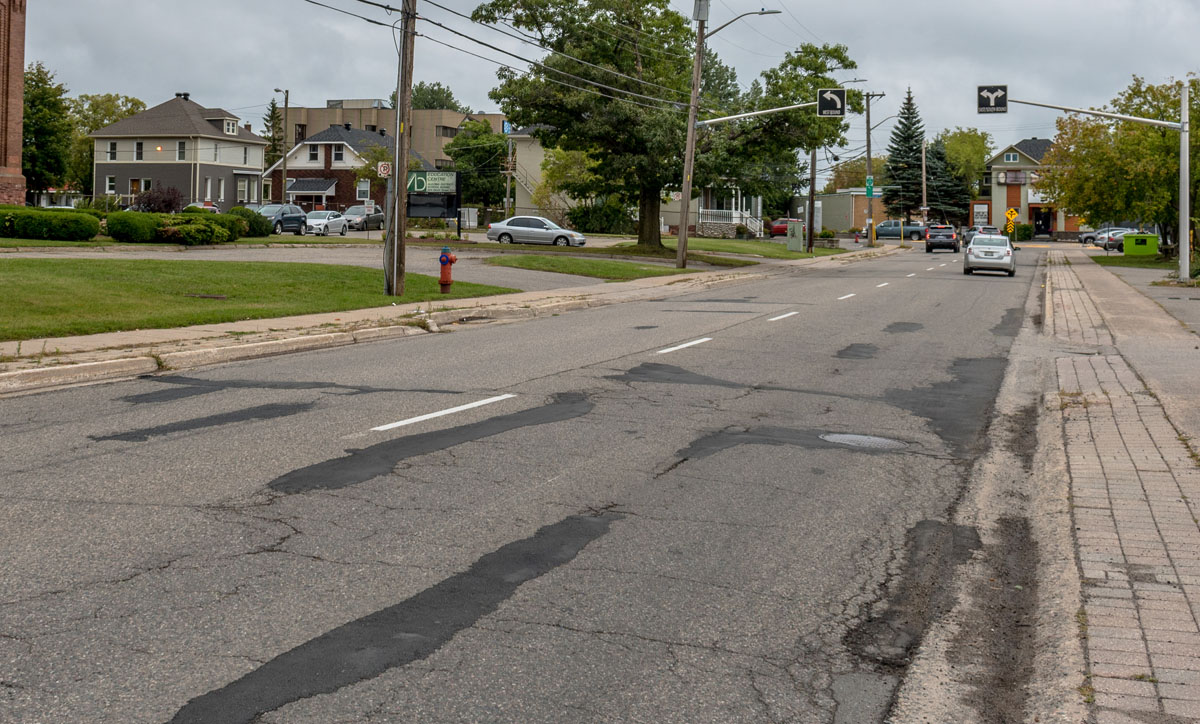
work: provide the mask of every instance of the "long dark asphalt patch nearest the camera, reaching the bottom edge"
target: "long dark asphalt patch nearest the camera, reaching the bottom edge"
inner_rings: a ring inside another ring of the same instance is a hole
[[[497,610],[524,582],[569,563],[617,515],[572,515],[475,561],[464,573],[340,626],[246,676],[188,701],[170,724],[251,724],[281,706],[329,694],[437,652]]]

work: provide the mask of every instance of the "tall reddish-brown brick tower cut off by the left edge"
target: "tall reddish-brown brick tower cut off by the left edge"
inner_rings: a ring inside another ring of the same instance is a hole
[[[25,0],[0,0],[0,203],[25,203]]]

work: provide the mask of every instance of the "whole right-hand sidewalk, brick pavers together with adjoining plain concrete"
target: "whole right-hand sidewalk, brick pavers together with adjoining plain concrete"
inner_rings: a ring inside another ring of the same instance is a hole
[[[1044,330],[1063,351],[1048,405],[1084,584],[1080,693],[1097,724],[1200,722],[1200,337],[1082,251],[1049,262]]]

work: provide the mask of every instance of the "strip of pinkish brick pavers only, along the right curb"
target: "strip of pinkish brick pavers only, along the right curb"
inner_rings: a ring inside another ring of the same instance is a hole
[[[1103,318],[1050,253],[1046,333],[1111,345]],[[1116,354],[1056,360],[1097,724],[1200,722],[1200,467]]]

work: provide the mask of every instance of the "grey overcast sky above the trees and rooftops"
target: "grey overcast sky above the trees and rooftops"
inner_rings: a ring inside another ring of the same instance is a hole
[[[320,1],[389,24],[397,19],[356,0]],[[478,5],[438,2],[464,13]],[[427,0],[416,5],[421,16],[518,55],[538,53]],[[690,17],[694,2],[671,6]],[[929,136],[974,126],[1001,148],[1051,138],[1058,113],[1013,106],[1007,115],[977,115],[978,84],[1007,83],[1014,98],[1090,107],[1110,101],[1134,74],[1162,83],[1200,72],[1200,0],[712,0],[709,25],[758,7],[782,13],[743,18],[710,41],[743,85],[799,43],[842,43],[858,62],[844,79],[866,78],[856,86],[887,94],[872,106],[876,124],[896,112],[911,86]],[[425,22],[418,32],[517,65]],[[71,95],[118,92],[155,106],[186,90],[256,131],[275,88],[288,88],[293,106],[324,106],[328,98],[386,98],[396,84],[389,29],[304,0],[36,0],[25,42],[26,62],[44,62]],[[496,70],[418,38],[415,80],[443,83],[476,110],[497,110],[487,97]],[[865,138],[863,119],[851,122],[844,156],[860,152]],[[878,151],[892,124],[872,134]]]

